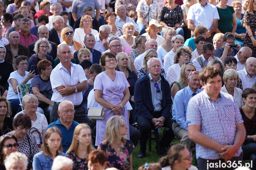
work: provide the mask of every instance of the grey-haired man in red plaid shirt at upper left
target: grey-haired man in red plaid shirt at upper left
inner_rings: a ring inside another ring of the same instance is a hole
[[[31,20],[29,18],[23,18],[20,20],[20,44],[23,46],[26,46],[28,48],[28,45],[31,43],[34,43],[38,38],[35,35],[32,35],[29,33],[31,28]]]

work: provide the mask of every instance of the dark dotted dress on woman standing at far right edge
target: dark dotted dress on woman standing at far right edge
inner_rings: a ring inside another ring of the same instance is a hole
[[[256,11],[250,11],[247,10],[246,12],[244,12],[244,17],[241,23],[241,26],[245,27],[245,25],[248,25],[251,27],[252,30],[252,34],[254,35],[254,32],[256,31]],[[252,49],[252,57],[256,57],[256,47],[254,47],[252,45],[252,40],[249,37],[248,33],[246,32],[245,38],[244,38],[244,43],[243,43],[243,47],[249,47]]]

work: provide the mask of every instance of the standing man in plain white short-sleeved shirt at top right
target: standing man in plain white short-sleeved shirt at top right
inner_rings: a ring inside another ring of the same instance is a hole
[[[191,31],[195,30],[198,25],[203,25],[208,29],[207,41],[212,43],[214,31],[218,27],[220,19],[217,8],[208,3],[207,0],[200,0],[197,4],[192,5],[187,14],[187,27]]]

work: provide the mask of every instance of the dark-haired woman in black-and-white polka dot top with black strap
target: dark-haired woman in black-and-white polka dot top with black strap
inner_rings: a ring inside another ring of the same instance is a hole
[[[28,133],[28,130],[31,128],[30,117],[27,114],[19,114],[16,119],[13,120],[13,128],[14,130],[12,132],[4,136],[15,136],[19,144],[19,152],[24,153],[29,161],[33,161],[33,156],[38,153],[38,147],[36,137]]]

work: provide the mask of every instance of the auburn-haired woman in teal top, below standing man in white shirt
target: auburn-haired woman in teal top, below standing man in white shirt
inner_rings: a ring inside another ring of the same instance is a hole
[[[205,38],[207,38],[207,28],[204,27],[203,25],[198,25],[195,27],[195,31],[194,31],[194,37],[193,38],[189,38],[185,41],[184,43],[184,47],[188,47],[190,49],[191,52],[193,52],[196,49],[195,46],[195,38],[199,35],[204,36]]]

